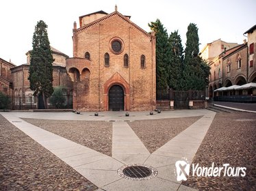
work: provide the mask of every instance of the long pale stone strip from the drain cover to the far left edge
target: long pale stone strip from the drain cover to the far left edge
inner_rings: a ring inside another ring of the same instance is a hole
[[[116,170],[124,164],[118,160],[38,128],[11,113],[1,115],[99,188],[122,179]]]

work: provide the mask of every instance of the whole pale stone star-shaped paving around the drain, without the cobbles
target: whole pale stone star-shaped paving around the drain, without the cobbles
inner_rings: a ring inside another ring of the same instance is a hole
[[[1,113],[18,129],[66,162],[78,173],[99,187],[98,190],[195,190],[181,185],[175,175],[175,162],[186,158],[192,162],[216,113],[208,110],[164,111],[149,115],[149,112],[101,112],[94,113],[51,113],[9,112]],[[172,117],[203,116],[190,127],[172,138],[168,143],[149,153],[127,121],[141,119],[165,119]],[[94,151],[66,138],[42,130],[21,118],[112,121],[112,157]],[[130,180],[120,177],[118,168],[126,164],[153,166],[158,174],[149,180]]]

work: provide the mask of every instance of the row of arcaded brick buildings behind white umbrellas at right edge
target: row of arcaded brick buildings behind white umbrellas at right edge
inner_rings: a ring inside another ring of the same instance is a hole
[[[210,98],[218,96],[220,92],[214,90],[232,85],[245,85],[256,82],[254,46],[256,42],[256,25],[244,34],[248,34],[248,42],[244,44],[226,43],[217,40],[207,44],[201,50],[201,57],[210,66],[209,86]],[[255,92],[255,91],[254,91]],[[251,95],[251,91],[225,91],[227,95]]]

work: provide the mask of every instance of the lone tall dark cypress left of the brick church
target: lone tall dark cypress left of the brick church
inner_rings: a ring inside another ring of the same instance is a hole
[[[47,34],[47,25],[38,21],[33,35],[33,49],[29,66],[30,89],[34,95],[42,95],[44,108],[47,108],[47,98],[53,93],[53,55]]]

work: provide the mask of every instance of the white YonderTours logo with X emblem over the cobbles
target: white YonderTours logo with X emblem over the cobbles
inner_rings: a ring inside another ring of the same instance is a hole
[[[190,175],[190,166],[192,167],[192,177],[245,177],[246,167],[234,167],[230,164],[216,166],[212,162],[211,166],[200,166],[199,164],[189,164],[188,160],[177,160],[175,163],[175,173],[177,181],[186,181]]]

